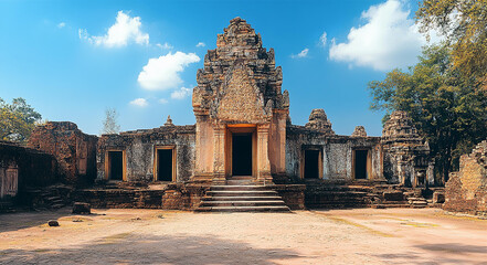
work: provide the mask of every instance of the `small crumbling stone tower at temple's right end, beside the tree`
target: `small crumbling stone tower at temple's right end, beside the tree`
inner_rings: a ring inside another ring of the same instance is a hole
[[[389,183],[405,187],[434,184],[430,147],[405,112],[394,112],[384,124],[381,145],[384,152],[384,177]]]

